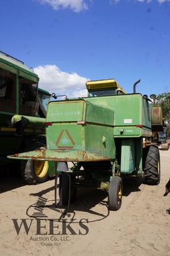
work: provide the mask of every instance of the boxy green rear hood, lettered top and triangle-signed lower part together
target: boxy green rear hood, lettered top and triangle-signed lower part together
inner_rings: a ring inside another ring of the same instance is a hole
[[[114,111],[84,100],[50,102],[46,121],[52,122],[46,128],[48,150],[85,150],[115,158]]]

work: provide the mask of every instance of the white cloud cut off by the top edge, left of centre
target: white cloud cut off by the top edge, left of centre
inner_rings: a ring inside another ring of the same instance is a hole
[[[37,0],[39,3],[42,4],[48,4],[50,5],[54,10],[58,10],[60,8],[63,9],[72,9],[72,11],[75,11],[76,13],[87,10],[88,9],[88,3],[89,0]],[[91,0],[90,0],[91,1]]]

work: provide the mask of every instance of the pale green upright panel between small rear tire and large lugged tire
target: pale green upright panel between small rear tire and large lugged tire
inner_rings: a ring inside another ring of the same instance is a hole
[[[135,170],[135,142],[133,139],[122,139],[121,168],[122,174],[131,174]]]

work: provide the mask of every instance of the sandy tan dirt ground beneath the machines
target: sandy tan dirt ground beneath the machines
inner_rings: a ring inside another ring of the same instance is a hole
[[[25,186],[19,178],[1,179],[0,255],[169,256],[170,194],[163,193],[170,177],[170,151],[160,154],[159,186],[124,182],[119,211],[108,211],[106,192],[89,189],[78,190],[76,202],[63,215],[62,209],[52,207],[54,180]],[[37,220],[34,204],[40,197],[46,204]],[[21,219],[26,219],[28,234],[23,224],[19,231]]]

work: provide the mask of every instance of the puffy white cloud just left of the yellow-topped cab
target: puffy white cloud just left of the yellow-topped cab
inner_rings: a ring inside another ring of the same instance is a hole
[[[86,77],[76,72],[68,73],[56,65],[37,66],[35,73],[39,75],[39,86],[57,95],[66,94],[68,97],[87,96]]]

